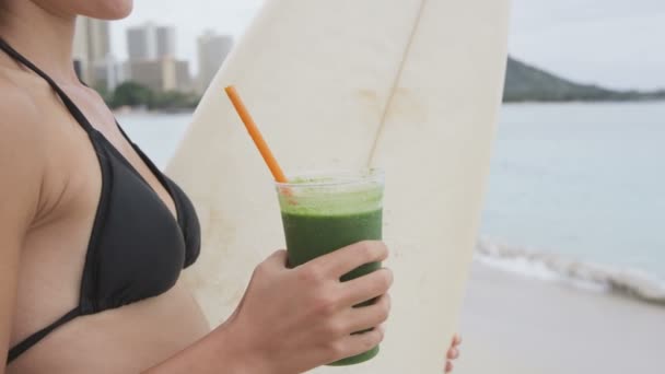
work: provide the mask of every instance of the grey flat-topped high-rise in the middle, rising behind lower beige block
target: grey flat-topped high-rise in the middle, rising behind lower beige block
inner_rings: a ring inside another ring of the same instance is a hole
[[[127,31],[130,61],[175,58],[175,28],[145,23]]]

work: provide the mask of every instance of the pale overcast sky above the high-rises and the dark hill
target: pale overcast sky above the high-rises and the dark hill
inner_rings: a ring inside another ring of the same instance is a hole
[[[194,62],[203,31],[237,38],[262,2],[135,0],[133,13],[112,26],[114,54],[127,57],[127,27],[153,21],[176,27],[176,54]],[[513,0],[509,50],[583,83],[665,87],[665,0]]]

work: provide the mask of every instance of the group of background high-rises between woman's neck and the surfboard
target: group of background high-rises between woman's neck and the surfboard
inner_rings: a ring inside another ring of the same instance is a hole
[[[126,30],[125,58],[110,43],[113,23],[81,16],[77,20],[73,58],[79,77],[103,92],[132,81],[153,92],[201,94],[226,58],[233,37],[210,30],[197,38],[198,73],[190,60],[176,55],[174,26],[147,22]]]

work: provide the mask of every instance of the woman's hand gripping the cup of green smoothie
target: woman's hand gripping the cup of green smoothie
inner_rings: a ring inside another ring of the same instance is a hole
[[[233,344],[238,367],[253,374],[302,373],[374,348],[390,309],[390,270],[339,279],[387,256],[382,242],[362,242],[289,269],[287,253],[275,253],[256,268],[237,309],[218,328],[225,336],[221,341]],[[373,305],[352,307],[374,297]]]

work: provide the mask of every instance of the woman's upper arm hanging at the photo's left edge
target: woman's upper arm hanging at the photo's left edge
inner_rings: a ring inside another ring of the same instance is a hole
[[[19,261],[25,234],[37,214],[43,157],[36,116],[0,81],[0,374],[9,350]]]

